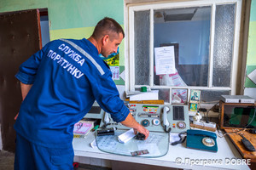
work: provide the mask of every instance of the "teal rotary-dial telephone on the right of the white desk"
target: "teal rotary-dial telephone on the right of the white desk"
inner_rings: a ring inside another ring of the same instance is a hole
[[[217,152],[216,139],[216,133],[194,129],[187,130],[187,148]]]

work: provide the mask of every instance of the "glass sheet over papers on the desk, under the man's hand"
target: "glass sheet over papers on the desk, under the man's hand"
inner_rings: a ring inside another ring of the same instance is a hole
[[[169,150],[169,133],[150,132],[148,139],[146,140],[137,140],[133,138],[125,144],[122,144],[119,142],[118,136],[126,131],[127,130],[115,130],[114,135],[96,135],[98,149],[122,156],[140,157],[165,156]],[[142,154],[142,150],[148,150],[148,153]],[[135,151],[137,151],[137,154],[134,155]]]

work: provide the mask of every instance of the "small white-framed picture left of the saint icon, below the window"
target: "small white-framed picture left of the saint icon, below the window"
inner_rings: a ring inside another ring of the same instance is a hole
[[[187,88],[172,88],[172,104],[186,105],[188,103]]]

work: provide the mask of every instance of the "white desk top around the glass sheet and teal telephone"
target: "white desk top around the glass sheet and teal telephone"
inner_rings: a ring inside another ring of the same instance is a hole
[[[84,156],[90,158],[98,158],[98,159],[106,159],[113,161],[125,161],[131,163],[139,163],[145,165],[154,165],[154,166],[162,166],[162,167],[174,167],[181,169],[243,169],[249,170],[250,168],[243,165],[232,165],[230,162],[225,163],[228,159],[231,161],[232,158],[241,159],[241,155],[236,150],[236,147],[232,144],[229,138],[218,138],[218,152],[212,153],[208,151],[202,150],[192,150],[187,149],[185,144],[177,144],[176,146],[172,146],[170,144],[169,151],[166,156],[161,156],[157,158],[145,158],[145,157],[133,157],[133,156],[119,156],[114,154],[109,154],[106,152],[102,152],[97,148],[91,148],[90,142],[95,139],[94,133],[89,133],[84,139],[73,139],[73,149],[75,156]],[[175,162],[177,158],[181,158],[182,164],[179,165]],[[186,160],[186,161],[185,161]],[[212,165],[203,166],[202,161],[214,161],[217,163]],[[196,162],[201,161],[201,163]],[[234,160],[233,160],[234,161]],[[191,164],[195,162],[196,165],[191,166]]]

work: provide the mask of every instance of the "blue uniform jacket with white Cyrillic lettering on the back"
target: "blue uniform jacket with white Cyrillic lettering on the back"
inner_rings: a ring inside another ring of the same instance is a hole
[[[108,65],[86,39],[49,42],[20,65],[15,77],[32,84],[20,106],[15,130],[36,144],[70,147],[74,123],[95,99],[116,122],[129,114]]]

